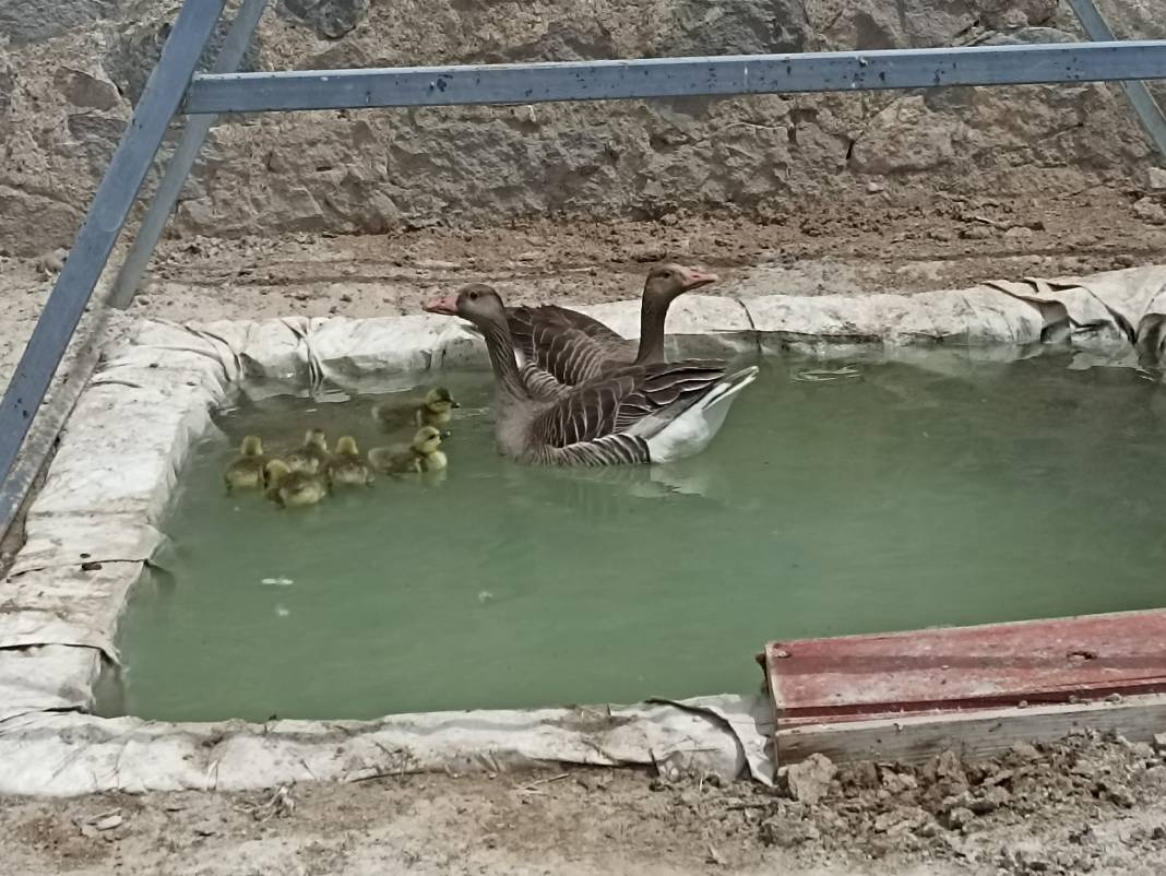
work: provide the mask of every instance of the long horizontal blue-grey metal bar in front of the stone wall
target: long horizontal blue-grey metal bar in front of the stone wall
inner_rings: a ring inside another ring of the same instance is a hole
[[[1166,78],[1166,40],[196,76],[183,112],[532,104]]]

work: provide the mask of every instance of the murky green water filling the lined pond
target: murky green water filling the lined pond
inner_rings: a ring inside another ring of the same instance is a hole
[[[308,510],[227,498],[231,448],[311,425],[384,443],[377,399],[225,412],[122,622],[119,707],[372,717],[751,692],[771,639],[1166,605],[1159,386],[1053,357],[812,367],[766,362],[704,454],[651,471],[506,462],[489,376],[445,373],[464,407],[444,481]]]

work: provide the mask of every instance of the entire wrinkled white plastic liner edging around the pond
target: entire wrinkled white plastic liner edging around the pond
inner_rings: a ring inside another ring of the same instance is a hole
[[[581,309],[637,335],[637,301]],[[1160,371],[1164,327],[1161,266],[918,295],[689,295],[668,322],[673,355],[792,346],[922,363],[927,350],[926,367],[953,371],[1049,345],[1070,350],[1080,367]],[[141,323],[77,405],[29,510],[27,544],[0,582],[0,794],[236,790],[553,763],[772,782],[771,707],[760,696],[370,722],[175,724],[86,714],[103,665],[117,664],[117,623],[131,589],[167,542],[177,471],[213,428],[213,408],[239,390],[384,392],[414,386],[426,371],[484,363],[480,341],[459,321],[428,314]],[[742,660],[763,644],[740,643]]]

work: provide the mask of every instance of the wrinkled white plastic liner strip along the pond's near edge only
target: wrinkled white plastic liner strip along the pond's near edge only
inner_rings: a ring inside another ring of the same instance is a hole
[[[444,712],[380,721],[168,724],[40,714],[0,726],[0,794],[245,791],[452,770],[648,766],[772,784],[760,696],[628,708]]]

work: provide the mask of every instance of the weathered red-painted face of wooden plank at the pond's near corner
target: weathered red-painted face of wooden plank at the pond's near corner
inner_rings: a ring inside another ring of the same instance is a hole
[[[1166,692],[1166,610],[773,642],[782,726]]]

